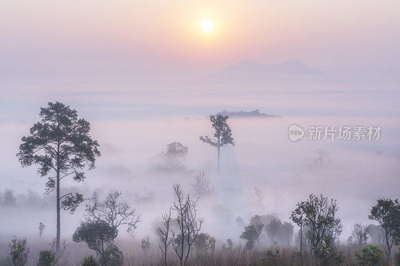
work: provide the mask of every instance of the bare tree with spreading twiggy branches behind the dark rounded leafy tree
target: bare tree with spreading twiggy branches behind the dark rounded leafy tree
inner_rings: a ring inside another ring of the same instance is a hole
[[[108,193],[104,202],[95,202],[93,207],[86,205],[86,221],[104,221],[113,228],[126,225],[126,232],[134,237],[133,232],[137,228],[136,224],[140,222],[141,214],[136,209],[131,208],[126,202],[118,202],[121,196],[120,191]]]

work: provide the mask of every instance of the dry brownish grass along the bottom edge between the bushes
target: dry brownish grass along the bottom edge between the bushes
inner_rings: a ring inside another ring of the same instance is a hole
[[[49,249],[47,243],[51,240],[37,238],[28,238],[29,246],[29,259],[28,265],[35,265],[37,261],[37,254],[40,250]],[[115,243],[120,250],[124,253],[124,265],[126,266],[154,266],[162,265],[162,257],[158,251],[158,247],[155,243],[151,245],[151,248],[147,252],[143,252],[140,249],[139,243],[132,240],[121,240]],[[212,255],[208,252],[192,251],[188,265],[191,266],[204,266],[204,265],[215,265],[215,266],[243,266],[243,265],[257,265],[261,259],[265,258],[266,252],[271,249],[273,253],[276,251],[276,247],[261,247],[253,251],[245,250],[243,246],[236,246],[232,249],[228,248],[216,248]],[[358,250],[357,247],[341,245],[338,250],[342,251],[346,257],[345,266],[358,265],[355,261],[353,253]],[[286,246],[279,247],[279,257],[277,262],[273,265],[278,266],[298,266],[299,261],[293,256],[293,252],[298,251],[297,247]],[[2,238],[0,240],[0,258],[7,256],[9,253],[8,240]],[[68,242],[68,246],[64,252],[63,257],[59,261],[59,266],[79,266],[80,261],[85,256],[94,255],[94,251],[87,248],[85,244],[77,244],[72,241]],[[168,265],[178,265],[175,254],[170,250],[168,254]],[[310,256],[303,259],[304,265],[316,265]],[[0,260],[0,266],[1,260]]]

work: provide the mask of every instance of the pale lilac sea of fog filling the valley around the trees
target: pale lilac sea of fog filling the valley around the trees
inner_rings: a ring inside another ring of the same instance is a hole
[[[83,183],[65,181],[62,186],[76,186],[89,194],[86,196],[96,191],[100,199],[112,190],[120,190],[123,200],[142,213],[136,230],[139,239],[152,234],[151,223],[173,203],[172,184],[179,183],[190,192],[190,183],[199,171],[207,173],[216,191],[214,196],[198,202],[199,216],[204,218],[203,232],[236,241],[240,229],[235,218],[240,216],[248,222],[257,213],[245,200],[255,187],[264,195],[262,212],[278,212],[284,221],[309,193],[336,199],[343,240],[353,223],[371,223],[367,217],[376,199],[399,197],[400,97],[396,91],[5,90],[3,95],[0,192],[11,189],[15,195],[26,190],[44,193],[46,178],[39,177],[34,166],[22,169],[15,154],[21,137],[38,119],[39,107],[47,101],[62,101],[90,122],[91,136],[100,143],[102,152],[96,168],[86,170]],[[218,178],[216,149],[202,143],[199,136],[211,132],[207,115],[223,109],[259,109],[282,117],[229,118],[235,145],[221,149]],[[382,130],[379,140],[307,140],[304,136],[291,142],[291,124],[304,129],[310,125],[379,125]],[[148,159],[165,151],[173,141],[188,147],[187,170],[175,174],[151,172]],[[317,149],[328,153],[330,163],[325,167],[310,166],[318,157]],[[150,194],[153,197],[147,199]],[[83,212],[83,205],[73,215],[62,212],[62,238],[70,238]],[[0,234],[36,235],[39,222],[46,225],[44,234],[53,236],[55,201],[54,208],[33,209],[22,204],[2,208]],[[121,238],[127,236],[123,230],[120,232]]]

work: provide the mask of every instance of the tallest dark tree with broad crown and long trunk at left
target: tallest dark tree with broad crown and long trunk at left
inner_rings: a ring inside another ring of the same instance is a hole
[[[83,195],[66,193],[60,196],[60,181],[72,177],[74,181],[85,179],[79,170],[85,166],[94,168],[95,157],[100,156],[97,141],[89,136],[90,125],[84,119],[77,118],[76,110],[70,109],[60,102],[48,103],[40,108],[41,120],[35,123],[27,137],[22,137],[19,153],[16,155],[22,167],[39,165],[37,173],[48,176],[46,193],[56,191],[56,255],[60,242],[60,210],[73,213],[83,201]],[[62,201],[61,201],[62,200]]]

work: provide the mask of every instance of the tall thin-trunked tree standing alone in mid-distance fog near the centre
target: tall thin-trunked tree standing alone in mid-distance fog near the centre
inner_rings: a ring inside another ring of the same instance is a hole
[[[217,148],[218,151],[218,176],[219,176],[219,149],[221,147],[225,147],[229,144],[234,146],[234,141],[232,138],[232,133],[230,130],[230,127],[226,120],[229,118],[229,116],[223,116],[223,115],[210,115],[209,120],[211,121],[212,128],[215,130],[214,133],[212,133],[212,136],[206,135],[206,136],[201,136],[200,140],[202,142],[208,143],[209,145]]]

